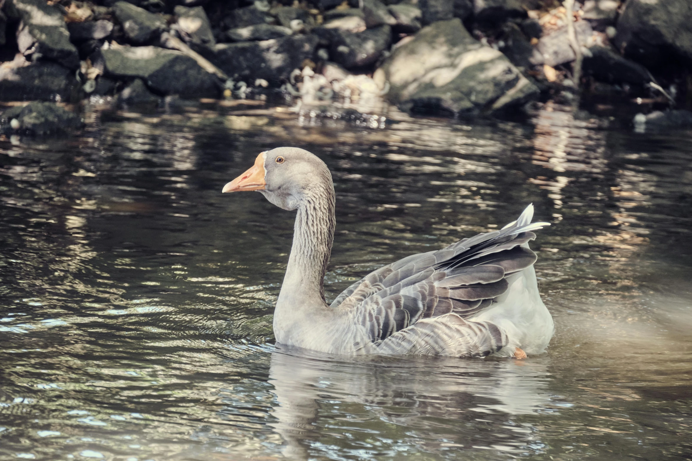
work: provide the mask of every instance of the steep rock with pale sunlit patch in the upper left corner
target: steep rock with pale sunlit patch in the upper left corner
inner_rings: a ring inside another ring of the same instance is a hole
[[[30,55],[33,61],[51,59],[67,68],[79,68],[80,57],[70,41],[60,9],[45,0],[9,0],[8,3],[21,19],[17,46],[24,56]]]

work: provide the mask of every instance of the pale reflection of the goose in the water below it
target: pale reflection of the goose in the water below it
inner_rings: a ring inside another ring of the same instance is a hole
[[[277,405],[270,424],[293,460],[325,451],[392,456],[408,447],[443,456],[483,448],[533,452],[543,444],[513,416],[549,404],[546,368],[540,359],[334,357],[281,346],[271,355]]]

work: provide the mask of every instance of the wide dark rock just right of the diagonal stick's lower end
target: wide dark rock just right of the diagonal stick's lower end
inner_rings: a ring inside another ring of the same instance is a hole
[[[234,79],[254,82],[265,79],[279,86],[289,79],[305,59],[312,59],[318,38],[314,35],[291,35],[282,39],[242,41],[218,44],[215,63]]]

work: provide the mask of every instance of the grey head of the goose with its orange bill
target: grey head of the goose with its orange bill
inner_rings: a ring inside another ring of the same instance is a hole
[[[334,194],[325,162],[298,147],[277,147],[260,153],[250,169],[228,182],[222,192],[258,191],[277,207],[293,210],[327,189]]]

